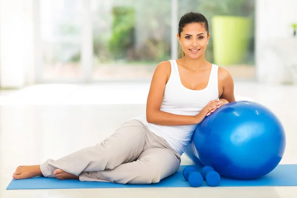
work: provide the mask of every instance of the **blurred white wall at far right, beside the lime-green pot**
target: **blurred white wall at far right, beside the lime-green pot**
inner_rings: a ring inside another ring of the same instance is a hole
[[[297,63],[297,0],[256,0],[256,77],[259,82],[293,82],[288,64]],[[295,48],[295,49],[294,49]],[[295,54],[295,55],[294,55]]]

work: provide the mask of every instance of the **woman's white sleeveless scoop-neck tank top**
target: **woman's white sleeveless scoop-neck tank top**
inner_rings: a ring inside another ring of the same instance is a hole
[[[165,86],[161,111],[177,115],[197,115],[210,100],[218,99],[218,66],[212,64],[208,84],[203,90],[191,90],[183,86],[176,60],[170,60],[171,74]],[[162,137],[179,154],[190,143],[197,125],[162,126],[147,122],[146,115],[136,117],[148,129]]]

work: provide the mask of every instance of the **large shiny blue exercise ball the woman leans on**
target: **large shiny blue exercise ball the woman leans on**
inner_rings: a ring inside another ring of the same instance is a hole
[[[267,107],[236,101],[198,124],[190,145],[186,150],[198,163],[213,167],[222,177],[247,180],[279,164],[286,137],[282,123]]]

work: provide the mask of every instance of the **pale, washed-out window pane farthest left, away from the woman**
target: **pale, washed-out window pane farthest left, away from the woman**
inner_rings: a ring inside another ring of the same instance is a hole
[[[71,79],[81,70],[81,0],[41,0],[42,79]]]

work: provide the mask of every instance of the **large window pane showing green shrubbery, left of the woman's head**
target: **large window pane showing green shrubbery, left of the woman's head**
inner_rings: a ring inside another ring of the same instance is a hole
[[[171,0],[91,0],[93,79],[151,78],[170,59]]]

